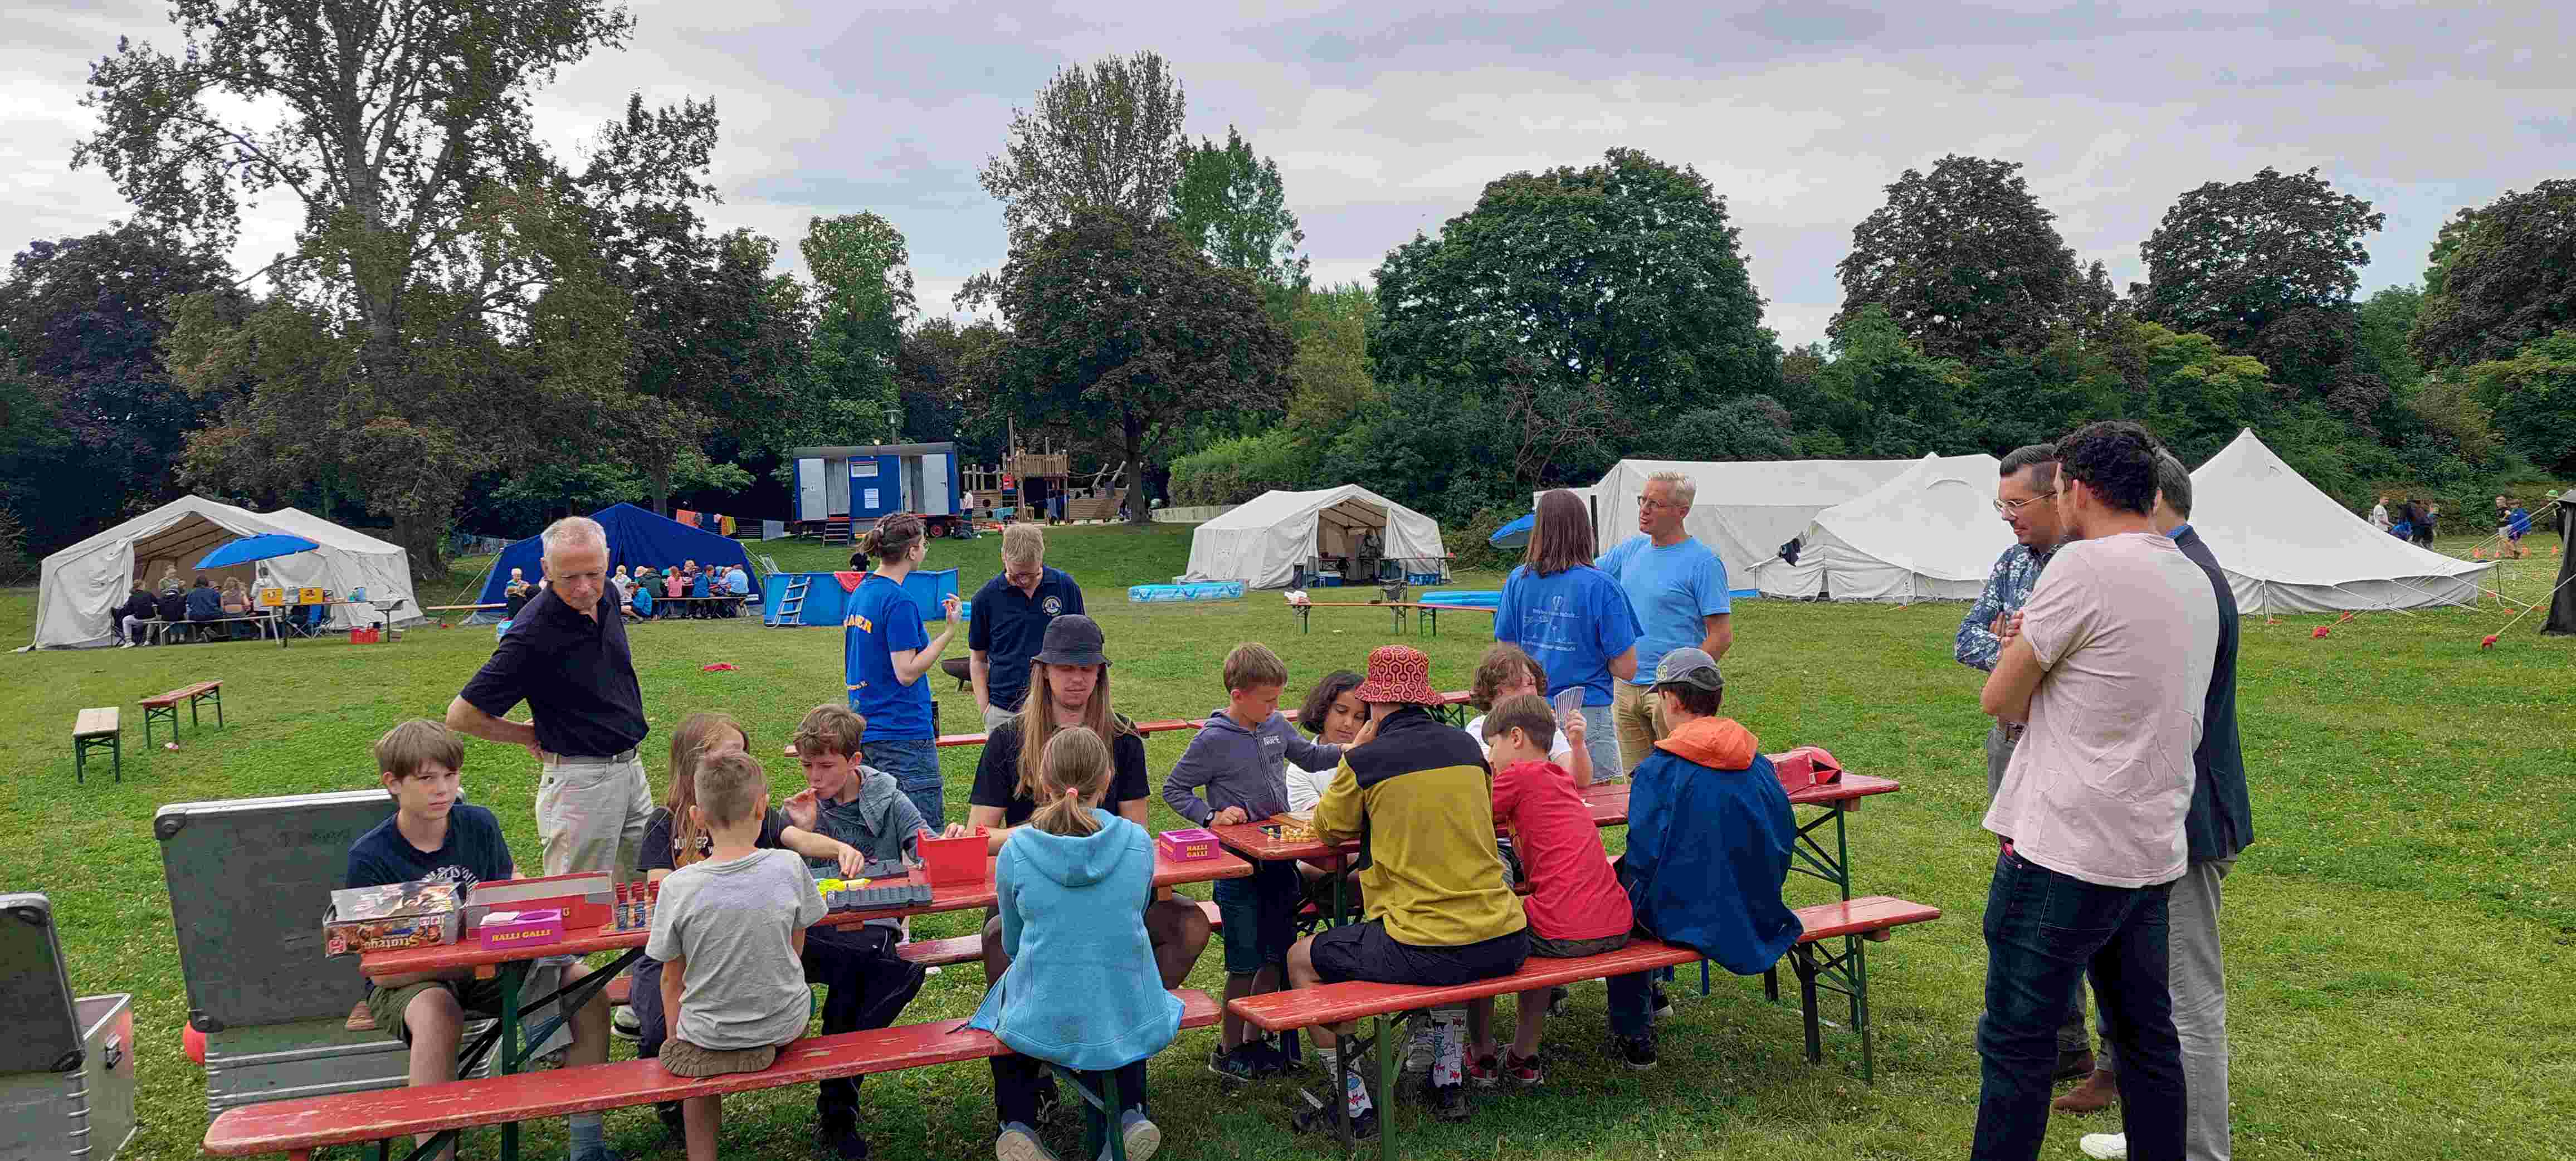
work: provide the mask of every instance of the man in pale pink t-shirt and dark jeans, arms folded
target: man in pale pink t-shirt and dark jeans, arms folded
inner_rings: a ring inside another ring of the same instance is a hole
[[[2156,533],[2156,453],[2133,422],[2058,440],[2056,510],[2069,543],[1986,680],[1986,713],[2025,731],[1986,811],[2004,847],[1986,893],[1978,1161],[2040,1156],[2056,1030],[2087,973],[2120,1055],[2130,1156],[2182,1158],[2166,891],[2187,865],[2182,819],[2218,597]]]

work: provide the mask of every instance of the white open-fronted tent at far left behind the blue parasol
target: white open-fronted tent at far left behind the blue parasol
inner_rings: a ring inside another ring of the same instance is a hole
[[[420,605],[412,600],[412,556],[399,546],[294,507],[250,512],[206,497],[183,497],[44,559],[36,582],[36,649],[116,644],[108,610],[126,600],[134,579],[157,590],[162,571],[175,571],[183,584],[193,582],[198,577],[193,566],[206,553],[260,533],[301,535],[319,548],[209,569],[206,577],[216,584],[240,579],[245,587],[258,587],[265,571],[278,587],[325,587],[343,595],[363,584],[368,600],[404,602],[394,610],[394,623],[420,620]],[[348,628],[353,623],[348,613],[332,605],[330,628]],[[355,620],[376,623],[371,613]]]

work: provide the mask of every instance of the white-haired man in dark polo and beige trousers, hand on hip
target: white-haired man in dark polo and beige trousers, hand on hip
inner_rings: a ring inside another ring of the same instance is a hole
[[[466,690],[448,703],[448,729],[528,747],[536,837],[546,875],[605,870],[629,878],[644,847],[652,790],[644,785],[644,690],[626,651],[626,618],[608,590],[608,533],[598,520],[546,525],[546,587],[510,620],[510,633]],[[502,713],[528,703],[528,718]]]

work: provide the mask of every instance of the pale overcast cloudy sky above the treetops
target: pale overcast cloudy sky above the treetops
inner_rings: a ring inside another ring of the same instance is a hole
[[[2576,5],[1404,3],[791,5],[636,3],[626,51],[538,95],[567,160],[629,90],[714,98],[721,227],[775,237],[876,211],[912,242],[927,311],[1005,257],[976,170],[1012,106],[1064,64],[1154,49],[1190,131],[1226,124],[1278,160],[1319,281],[1473,206],[1512,170],[1636,147],[1695,165],[1744,229],[1767,322],[1816,340],[1834,263],[1880,188],[1947,152],[2025,162],[2081,260],[2143,278],[2174,196],[2264,165],[2321,167],[2388,214],[2362,293],[2421,278],[2442,219],[2576,175]],[[21,3],[0,46],[0,237],[82,234],[126,214],[98,170],[88,62],[118,36],[178,49],[160,3]],[[255,214],[234,265],[296,221]],[[796,263],[801,268],[801,263]]]

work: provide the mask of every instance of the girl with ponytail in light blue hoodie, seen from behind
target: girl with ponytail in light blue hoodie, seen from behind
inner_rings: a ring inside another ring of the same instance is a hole
[[[1077,1071],[1108,1094],[1118,1115],[1084,1107],[1082,1156],[1110,1156],[1118,1133],[1128,1161],[1146,1161],[1162,1130],[1144,1115],[1144,1061],[1180,1035],[1180,999],[1162,989],[1144,906],[1154,898],[1154,839],[1100,808],[1110,788],[1110,747],[1100,734],[1056,731],[1041,754],[1038,813],[1010,831],[994,860],[1002,950],[1010,971],[984,994],[966,1027],[981,1027],[1018,1055],[992,1058],[992,1097],[1002,1115],[999,1161],[1054,1161],[1038,1143],[1038,1089],[1046,1063]]]

